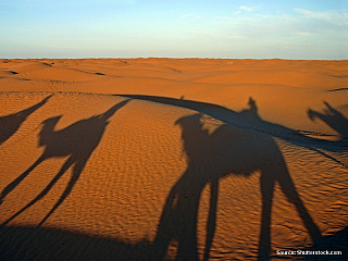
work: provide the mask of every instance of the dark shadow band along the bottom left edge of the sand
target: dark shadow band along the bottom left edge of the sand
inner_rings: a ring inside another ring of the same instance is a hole
[[[57,228],[0,226],[1,261],[151,260],[149,245]]]

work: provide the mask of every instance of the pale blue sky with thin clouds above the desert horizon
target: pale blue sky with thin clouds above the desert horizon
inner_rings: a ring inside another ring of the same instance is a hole
[[[0,0],[0,58],[348,59],[347,0]]]

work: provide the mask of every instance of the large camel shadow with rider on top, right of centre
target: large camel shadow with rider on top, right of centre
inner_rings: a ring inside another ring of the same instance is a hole
[[[225,113],[226,110],[224,111]],[[247,122],[262,122],[254,100],[249,109],[238,114]],[[227,116],[227,115],[226,115]],[[275,183],[278,183],[287,200],[293,203],[312,241],[321,233],[306,209],[290,177],[282,151],[272,136],[259,132],[219,126],[212,134],[203,128],[202,114],[179,119],[184,150],[188,167],[172,187],[158,225],[153,247],[159,259],[164,259],[172,240],[177,243],[176,260],[200,260],[197,245],[198,207],[203,188],[210,185],[210,209],[207,222],[204,260],[209,260],[216,226],[219,182],[227,175],[252,175],[260,172],[262,197],[259,259],[269,260],[271,251],[271,213]]]

